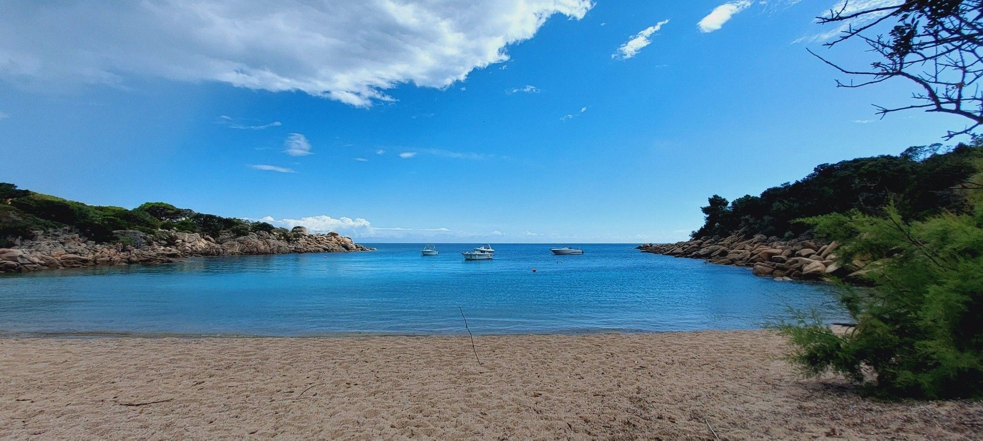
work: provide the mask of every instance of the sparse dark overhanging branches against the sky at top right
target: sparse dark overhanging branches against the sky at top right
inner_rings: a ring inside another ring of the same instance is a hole
[[[971,133],[983,124],[983,0],[897,0],[890,6],[844,0],[820,24],[841,25],[842,32],[826,46],[860,40],[878,57],[869,69],[847,69],[816,55],[840,73],[859,82],[837,81],[840,87],[863,87],[903,79],[914,87],[913,104],[875,106],[881,116],[902,110],[923,110],[963,117],[969,124],[946,137]],[[887,33],[883,31],[887,29]],[[811,52],[811,51],[810,51]]]

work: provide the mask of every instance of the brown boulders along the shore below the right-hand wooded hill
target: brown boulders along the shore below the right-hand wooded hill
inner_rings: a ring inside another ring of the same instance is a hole
[[[808,238],[781,241],[763,234],[751,238],[735,234],[670,244],[647,243],[639,245],[638,249],[645,253],[706,259],[711,264],[748,267],[755,275],[781,279],[819,278],[825,274],[859,278],[863,264],[855,262],[846,268],[840,266],[836,254],[838,246],[837,242],[823,244]]]

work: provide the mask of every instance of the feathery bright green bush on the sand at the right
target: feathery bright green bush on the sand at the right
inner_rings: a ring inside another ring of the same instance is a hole
[[[791,359],[886,397],[983,398],[983,204],[965,199],[966,213],[923,221],[905,221],[893,203],[881,216],[854,210],[807,220],[840,241],[843,265],[871,262],[862,272],[873,287],[841,288],[856,323],[844,334],[816,317],[782,324],[796,348]]]

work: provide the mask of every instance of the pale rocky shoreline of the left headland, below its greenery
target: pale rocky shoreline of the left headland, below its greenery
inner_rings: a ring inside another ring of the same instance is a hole
[[[307,234],[306,229],[288,235],[265,231],[217,239],[198,233],[160,230],[116,231],[113,244],[97,244],[71,231],[35,231],[33,239],[19,239],[14,248],[0,248],[0,272],[26,272],[95,265],[166,264],[196,256],[239,254],[337,253],[370,251],[338,233]]]

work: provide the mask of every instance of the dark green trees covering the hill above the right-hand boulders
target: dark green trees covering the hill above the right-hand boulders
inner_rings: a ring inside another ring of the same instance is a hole
[[[794,237],[809,229],[800,218],[857,211],[879,213],[889,201],[905,220],[922,220],[938,213],[967,213],[965,195],[953,188],[976,171],[983,141],[942,146],[910,147],[898,156],[878,156],[824,164],[808,176],[772,187],[760,196],[745,195],[726,204],[714,195],[703,208],[706,222],[694,238],[735,232]]]

